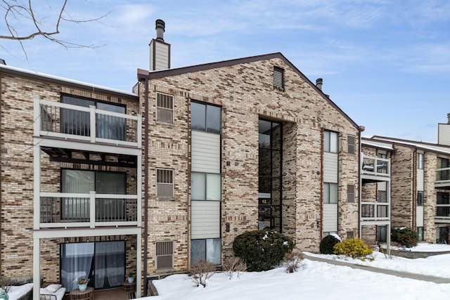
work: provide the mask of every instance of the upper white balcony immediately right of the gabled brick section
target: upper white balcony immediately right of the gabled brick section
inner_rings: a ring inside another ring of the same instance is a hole
[[[363,183],[390,181],[391,160],[389,158],[364,155],[361,163]]]

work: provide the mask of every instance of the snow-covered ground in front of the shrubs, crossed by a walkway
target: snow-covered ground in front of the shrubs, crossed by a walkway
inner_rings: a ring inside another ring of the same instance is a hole
[[[409,249],[408,249],[409,250]],[[450,251],[450,245],[419,244],[412,251]],[[338,256],[317,255],[327,259]],[[401,270],[410,273],[450,278],[450,254],[430,256],[428,259],[404,259],[375,253],[374,261],[344,259],[377,268]],[[154,281],[160,296],[146,300],[167,299],[449,299],[450,284],[436,284],[392,275],[356,270],[330,263],[304,259],[296,273],[285,273],[285,268],[266,272],[242,273],[229,280],[224,273],[216,273],[207,287],[194,287],[187,275],[172,275]]]

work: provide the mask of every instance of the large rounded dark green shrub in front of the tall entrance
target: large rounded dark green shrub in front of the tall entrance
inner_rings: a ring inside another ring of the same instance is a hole
[[[238,235],[233,242],[234,255],[247,263],[248,270],[256,272],[278,266],[293,248],[293,240],[271,230],[249,231]]]

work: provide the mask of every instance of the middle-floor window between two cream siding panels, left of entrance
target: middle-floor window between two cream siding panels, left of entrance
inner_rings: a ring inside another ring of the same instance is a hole
[[[220,174],[191,174],[191,200],[220,200]]]

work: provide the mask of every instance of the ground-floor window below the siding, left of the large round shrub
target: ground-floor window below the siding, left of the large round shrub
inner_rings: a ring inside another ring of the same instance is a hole
[[[191,264],[202,259],[216,265],[221,263],[220,239],[191,240]]]

